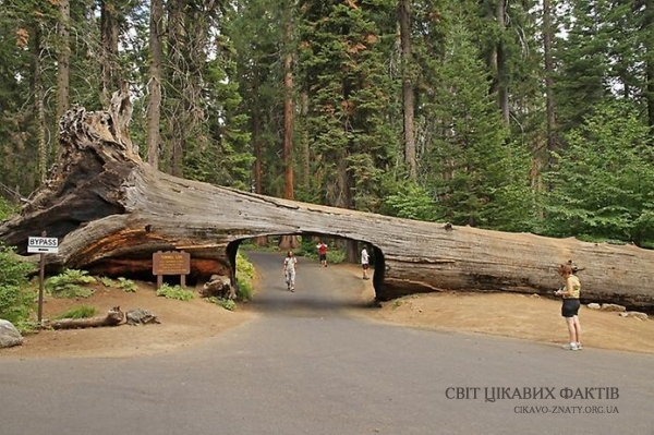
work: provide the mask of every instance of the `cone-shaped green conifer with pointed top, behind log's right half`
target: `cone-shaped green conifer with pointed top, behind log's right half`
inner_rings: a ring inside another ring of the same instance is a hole
[[[509,141],[463,14],[450,17],[448,34],[445,57],[435,71],[443,88],[434,110],[443,120],[443,133],[433,138],[425,156],[423,186],[389,195],[388,205],[402,217],[524,230],[533,209],[530,155]]]

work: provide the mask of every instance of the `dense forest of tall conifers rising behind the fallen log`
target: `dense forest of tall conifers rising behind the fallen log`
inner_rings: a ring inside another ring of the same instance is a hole
[[[161,171],[654,245],[654,0],[0,0],[3,207],[129,89]]]

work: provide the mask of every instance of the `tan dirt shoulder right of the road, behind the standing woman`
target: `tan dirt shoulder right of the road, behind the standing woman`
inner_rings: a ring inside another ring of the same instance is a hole
[[[368,290],[371,292],[372,290]],[[521,338],[559,346],[568,330],[560,302],[512,293],[446,292],[405,297],[371,312],[404,326]],[[582,306],[584,348],[654,353],[654,321],[621,317]]]

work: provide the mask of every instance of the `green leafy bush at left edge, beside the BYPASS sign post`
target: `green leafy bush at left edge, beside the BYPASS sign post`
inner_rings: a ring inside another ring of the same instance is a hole
[[[16,327],[27,321],[34,305],[34,291],[27,280],[32,271],[34,265],[21,262],[14,249],[0,245],[0,318]]]

